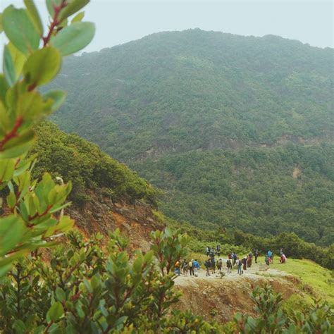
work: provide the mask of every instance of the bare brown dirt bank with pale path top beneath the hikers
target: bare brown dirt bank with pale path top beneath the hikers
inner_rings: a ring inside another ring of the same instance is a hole
[[[259,271],[259,264],[253,264],[241,276],[235,269],[222,278],[218,274],[205,275],[206,271],[201,269],[197,277],[181,275],[175,279],[175,287],[183,294],[176,307],[183,311],[191,309],[193,314],[208,320],[230,321],[236,312],[254,315],[249,294],[256,285],[269,284],[276,292],[282,292],[284,298],[303,294],[295,284],[295,278],[272,268]]]

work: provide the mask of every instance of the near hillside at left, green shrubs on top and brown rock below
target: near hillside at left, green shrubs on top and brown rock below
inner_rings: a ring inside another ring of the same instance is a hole
[[[49,171],[73,183],[73,203],[66,211],[85,235],[106,237],[120,228],[130,237],[132,247],[147,249],[151,231],[163,228],[153,210],[154,187],[96,145],[67,135],[54,124],[42,123],[32,154],[38,154],[33,169],[36,178]]]

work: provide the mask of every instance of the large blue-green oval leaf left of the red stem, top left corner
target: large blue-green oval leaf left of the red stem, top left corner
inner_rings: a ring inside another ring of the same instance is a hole
[[[8,6],[2,15],[2,25],[8,39],[23,54],[38,49],[39,35],[27,11]]]

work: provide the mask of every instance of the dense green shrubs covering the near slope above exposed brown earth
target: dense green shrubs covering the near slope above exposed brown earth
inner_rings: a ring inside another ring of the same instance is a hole
[[[102,153],[96,145],[78,135],[66,135],[56,125],[46,122],[37,128],[37,137],[37,144],[32,149],[32,154],[39,157],[34,168],[35,177],[39,178],[47,170],[66,182],[71,180],[70,198],[75,204],[84,204],[89,200],[89,190],[96,190],[115,202],[142,200],[156,205],[154,187]]]

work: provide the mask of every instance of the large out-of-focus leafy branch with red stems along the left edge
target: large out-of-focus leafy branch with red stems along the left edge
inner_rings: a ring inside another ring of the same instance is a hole
[[[1,32],[4,30],[9,42],[4,47],[4,74],[0,75],[0,206],[1,211],[2,206],[6,209],[0,218],[0,276],[20,256],[53,245],[54,237],[73,226],[73,220],[63,216],[71,183],[58,185],[45,171],[39,180],[34,180],[35,156],[27,158],[35,142],[35,125],[63,102],[63,93],[49,92],[43,96],[37,87],[53,80],[61,68],[61,54],[49,43],[65,26],[59,16],[71,15],[78,7],[68,1],[54,6],[45,37],[32,0],[24,1],[26,8],[8,6],[1,13]],[[81,4],[80,8],[85,6]],[[94,26],[88,24],[89,32],[83,35],[89,38],[82,38],[80,47],[85,47],[94,35]],[[20,307],[16,311],[20,313]],[[59,314],[56,304],[49,318],[55,321]],[[16,322],[15,328],[22,326],[23,323]]]

